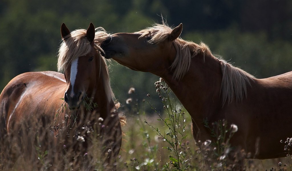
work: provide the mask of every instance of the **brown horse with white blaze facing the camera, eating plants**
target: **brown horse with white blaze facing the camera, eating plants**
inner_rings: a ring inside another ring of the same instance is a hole
[[[121,125],[107,64],[99,47],[108,35],[102,28],[95,32],[92,23],[87,30],[71,33],[63,23],[61,34],[58,71],[64,74],[27,72],[13,78],[0,95],[0,136],[16,134],[23,121],[41,118],[44,125],[50,125],[56,144],[61,143],[59,137],[68,136],[78,142],[73,147],[75,154],[79,151],[82,156],[94,156],[96,151],[89,149],[93,139],[88,132],[95,132],[93,135],[102,139],[97,146],[104,160],[100,165],[106,170],[116,170]],[[68,146],[66,142],[64,146]],[[74,158],[78,160],[77,156]]]

